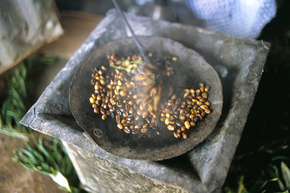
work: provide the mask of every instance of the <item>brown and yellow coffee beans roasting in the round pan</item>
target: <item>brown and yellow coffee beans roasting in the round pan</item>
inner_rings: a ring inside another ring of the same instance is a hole
[[[174,68],[170,64],[177,57],[156,59],[157,67],[143,63],[137,55],[117,58],[110,54],[107,58],[110,67],[92,69],[90,83],[95,91],[89,101],[95,113],[100,112],[104,120],[108,116],[115,118],[124,132],[138,134],[155,129],[159,135],[156,127],[163,122],[174,137],[186,139],[186,129],[211,113],[211,103],[206,101],[209,86],[204,83],[196,90],[184,89],[182,99],[174,94],[170,84]]]

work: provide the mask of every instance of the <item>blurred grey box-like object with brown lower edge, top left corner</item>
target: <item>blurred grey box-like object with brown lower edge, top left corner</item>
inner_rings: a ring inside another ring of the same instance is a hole
[[[64,33],[52,0],[2,0],[0,13],[0,74]]]

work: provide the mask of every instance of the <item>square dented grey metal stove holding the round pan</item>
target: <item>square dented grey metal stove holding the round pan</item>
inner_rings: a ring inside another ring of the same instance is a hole
[[[224,105],[217,126],[204,142],[181,156],[155,162],[119,158],[104,151],[82,134],[82,128],[70,111],[70,83],[79,65],[96,47],[127,36],[115,10],[108,12],[92,31],[21,123],[67,142],[72,150],[69,155],[75,159],[73,163],[79,171],[81,183],[91,190],[98,191],[107,187],[96,182],[101,179],[97,176],[108,176],[101,181],[123,183],[122,187],[124,185],[136,192],[143,190],[144,186],[156,191],[171,188],[189,192],[220,191],[257,92],[270,44],[195,26],[153,21],[147,17],[127,15],[127,18],[136,35],[169,37],[197,51],[218,71]],[[110,163],[102,165],[106,170],[97,167],[96,163],[100,161]],[[117,165],[123,171],[111,171],[112,165]],[[120,182],[117,178],[121,176],[130,180]],[[149,183],[148,179],[153,180],[153,183]],[[106,190],[115,191],[110,187]]]

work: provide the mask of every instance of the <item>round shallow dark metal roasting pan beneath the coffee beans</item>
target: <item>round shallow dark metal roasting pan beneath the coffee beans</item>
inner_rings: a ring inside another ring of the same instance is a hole
[[[102,65],[108,66],[107,54],[115,53],[118,57],[138,54],[133,38],[124,38],[109,42],[98,47],[88,55],[76,71],[70,86],[70,107],[79,125],[104,150],[115,156],[141,159],[148,161],[164,160],[179,156],[193,149],[202,142],[215,128],[222,113],[222,84],[215,69],[202,56],[181,43],[163,37],[139,36],[138,40],[147,52],[154,52],[155,57],[177,56],[173,62],[175,69],[173,78],[175,92],[183,93],[184,88],[198,88],[199,82],[205,82],[211,88],[208,101],[211,102],[212,113],[207,115],[196,126],[186,132],[187,139],[176,139],[173,131],[164,126],[157,126],[160,135],[155,130],[134,135],[117,128],[114,118],[102,120],[101,114],[95,114],[89,102],[94,92],[90,84],[91,69]]]

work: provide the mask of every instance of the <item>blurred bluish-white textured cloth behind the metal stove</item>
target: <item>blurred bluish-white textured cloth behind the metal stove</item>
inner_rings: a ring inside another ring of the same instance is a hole
[[[195,16],[213,31],[258,38],[276,16],[275,0],[186,0]]]

